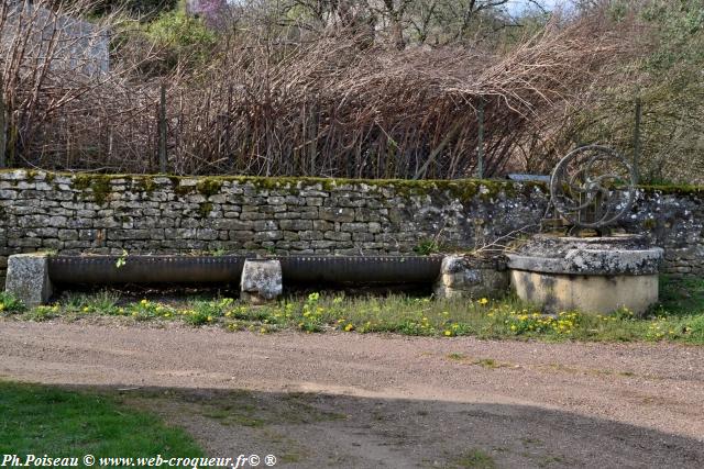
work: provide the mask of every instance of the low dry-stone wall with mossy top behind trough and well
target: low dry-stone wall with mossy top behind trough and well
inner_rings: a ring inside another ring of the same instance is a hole
[[[468,250],[537,228],[539,183],[176,178],[0,171],[7,256],[65,254],[402,254]],[[704,273],[704,192],[640,189],[630,232],[666,248],[664,270]]]

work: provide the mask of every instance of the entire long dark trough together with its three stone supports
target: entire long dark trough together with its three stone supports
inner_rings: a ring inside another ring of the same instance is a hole
[[[10,256],[7,290],[29,306],[47,302],[55,284],[239,283],[242,299],[263,303],[284,282],[314,286],[433,286],[438,298],[498,297],[505,263],[470,256]]]

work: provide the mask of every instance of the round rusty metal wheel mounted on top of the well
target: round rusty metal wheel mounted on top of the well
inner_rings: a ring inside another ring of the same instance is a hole
[[[612,148],[587,145],[570,152],[550,178],[550,198],[558,213],[578,228],[600,231],[632,206],[636,172]]]

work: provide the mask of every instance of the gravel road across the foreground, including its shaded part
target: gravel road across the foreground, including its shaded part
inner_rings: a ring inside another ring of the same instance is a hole
[[[704,467],[704,347],[0,320],[0,378],[277,467]]]

